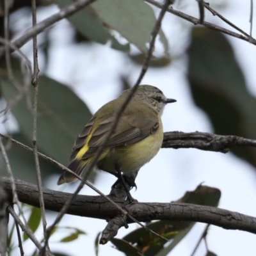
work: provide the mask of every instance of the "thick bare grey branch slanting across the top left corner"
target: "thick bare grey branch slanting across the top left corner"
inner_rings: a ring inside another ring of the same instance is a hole
[[[13,42],[16,47],[20,48],[22,45],[26,44],[33,36],[38,35],[42,31],[44,31],[45,28],[48,28],[52,24],[60,21],[61,19],[64,19],[77,11],[81,10],[82,8],[88,6],[89,4],[95,2],[96,0],[77,0],[74,3],[66,6],[65,8],[62,8],[60,12],[52,15],[51,17],[42,20],[36,26],[33,28],[28,29],[24,35],[20,36],[17,40]],[[12,52],[12,51],[11,51]],[[0,57],[3,55],[3,49],[0,49]]]

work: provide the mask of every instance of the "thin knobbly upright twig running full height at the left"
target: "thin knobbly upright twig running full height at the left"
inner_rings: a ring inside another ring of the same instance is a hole
[[[32,20],[33,20],[33,27],[36,26],[36,1],[31,1],[31,7],[32,7]],[[45,207],[44,207],[44,195],[42,191],[42,178],[41,178],[41,172],[40,172],[40,164],[38,159],[38,149],[36,145],[36,131],[37,131],[37,104],[38,104],[38,73],[39,73],[39,67],[38,67],[38,49],[37,49],[37,37],[36,35],[33,36],[33,66],[34,66],[34,74],[33,79],[31,83],[33,84],[35,88],[34,92],[34,104],[33,104],[33,152],[35,156],[35,166],[36,166],[36,179],[37,179],[37,185],[38,185],[38,191],[39,191],[39,201],[40,201],[40,209],[41,209],[41,215],[42,215],[42,223],[43,223],[43,229],[44,229],[44,238],[45,238],[45,246],[41,252],[41,255],[45,254],[45,250],[47,248],[48,252],[51,252],[49,248],[49,243],[47,241],[47,234],[46,234],[46,228],[47,228],[47,222],[45,218]]]

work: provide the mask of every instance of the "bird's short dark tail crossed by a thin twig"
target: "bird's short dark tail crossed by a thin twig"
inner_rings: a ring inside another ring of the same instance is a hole
[[[77,175],[81,175],[85,166],[88,164],[88,161],[81,161],[81,159],[74,159],[68,164],[68,169],[72,170]],[[63,171],[60,175],[60,178],[57,182],[58,185],[63,183],[70,183],[75,182],[77,177],[74,176],[72,173]]]

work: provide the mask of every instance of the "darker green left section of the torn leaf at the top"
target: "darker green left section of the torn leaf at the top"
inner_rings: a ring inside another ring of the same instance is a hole
[[[54,2],[58,4],[60,8],[73,3],[72,0],[54,0]],[[77,31],[94,42],[106,44],[108,41],[111,41],[111,47],[113,49],[125,52],[130,50],[129,44],[120,44],[116,38],[112,36],[106,28],[104,28],[102,20],[97,17],[90,6],[83,8],[79,12],[68,17],[68,20],[77,29]]]

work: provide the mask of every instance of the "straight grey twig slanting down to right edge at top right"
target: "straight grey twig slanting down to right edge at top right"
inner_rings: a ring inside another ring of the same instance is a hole
[[[150,3],[150,4],[153,4],[154,6],[157,6],[158,8],[163,8],[163,4],[155,1],[155,0],[144,0],[145,2],[147,3]],[[170,13],[173,13],[174,15],[184,19],[184,20],[188,20],[189,22],[197,25],[197,24],[200,24],[200,20],[199,19],[196,19],[195,17],[192,17],[186,13],[183,13],[183,12],[179,12],[177,10],[174,10],[172,7],[168,8],[167,9],[167,12],[170,12]],[[220,31],[226,35],[229,35],[229,36],[234,36],[236,38],[239,38],[239,39],[242,39],[244,41],[247,41],[247,42],[250,42],[250,36],[243,36],[241,34],[238,34],[236,32],[233,32],[233,31],[230,31],[228,29],[225,29],[225,28],[221,28],[220,26],[216,26],[210,22],[205,22],[202,24],[203,26],[205,26],[206,28],[210,28],[210,29],[213,29],[213,30],[216,30],[216,31]],[[245,32],[244,32],[245,33]],[[256,40],[254,38],[251,38],[252,40],[252,44],[255,44],[256,45]]]

